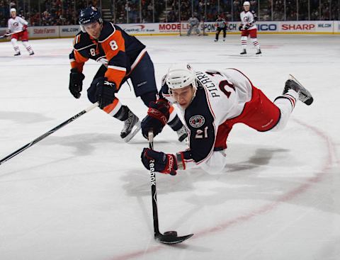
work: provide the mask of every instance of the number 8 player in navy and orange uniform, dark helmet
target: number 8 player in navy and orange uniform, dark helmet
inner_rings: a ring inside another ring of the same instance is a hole
[[[157,99],[154,64],[140,40],[119,26],[103,21],[95,7],[81,10],[79,24],[81,32],[75,36],[74,49],[69,55],[72,67],[69,91],[79,98],[85,77],[84,63],[89,59],[101,63],[87,90],[88,98],[92,103],[98,101],[103,111],[124,122],[120,137],[128,142],[140,130],[140,120],[128,106],[120,103],[115,93],[131,79],[135,95],[142,98],[146,106],[154,106]],[[186,138],[186,128],[175,111],[168,125],[177,132],[180,141]]]

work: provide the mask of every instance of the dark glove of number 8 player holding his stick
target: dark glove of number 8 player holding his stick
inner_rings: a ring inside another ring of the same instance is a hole
[[[115,83],[105,77],[94,79],[87,90],[87,96],[92,103],[99,102],[101,109],[113,103],[115,100]]]

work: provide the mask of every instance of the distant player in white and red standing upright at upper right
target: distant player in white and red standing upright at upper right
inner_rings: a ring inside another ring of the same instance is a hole
[[[243,4],[244,11],[240,13],[241,17],[241,25],[239,26],[239,30],[241,31],[241,44],[242,44],[242,52],[241,55],[246,54],[246,42],[248,40],[248,35],[250,35],[251,41],[256,47],[256,55],[261,54],[260,44],[257,40],[257,29],[255,23],[257,21],[257,16],[254,11],[250,11],[250,3],[249,1],[245,1]]]

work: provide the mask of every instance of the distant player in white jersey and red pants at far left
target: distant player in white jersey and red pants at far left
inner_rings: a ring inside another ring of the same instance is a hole
[[[11,9],[11,18],[8,19],[8,29],[6,33],[13,33],[11,35],[11,43],[13,45],[14,51],[16,52],[14,56],[21,55],[20,49],[18,46],[18,40],[21,40],[23,46],[26,47],[26,50],[30,55],[34,55],[32,47],[28,43],[28,30],[27,30],[28,22],[16,15],[16,9]],[[16,33],[18,32],[18,33]]]

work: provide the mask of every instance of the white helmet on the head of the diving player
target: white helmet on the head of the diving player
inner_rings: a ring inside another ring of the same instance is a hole
[[[182,89],[190,84],[196,88],[196,73],[188,63],[173,64],[166,74],[169,89]]]

